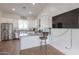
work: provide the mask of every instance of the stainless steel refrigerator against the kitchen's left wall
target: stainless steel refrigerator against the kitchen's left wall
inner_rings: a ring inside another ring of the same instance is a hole
[[[13,24],[12,23],[2,23],[1,24],[1,40],[11,40],[13,39]]]

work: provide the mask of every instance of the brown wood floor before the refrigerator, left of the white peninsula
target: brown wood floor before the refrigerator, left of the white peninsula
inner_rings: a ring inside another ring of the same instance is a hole
[[[0,42],[0,55],[18,55],[20,53],[20,40]]]

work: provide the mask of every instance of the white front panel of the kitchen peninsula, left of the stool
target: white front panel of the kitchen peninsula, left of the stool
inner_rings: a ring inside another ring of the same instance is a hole
[[[21,37],[20,40],[21,40],[21,50],[40,45],[39,36],[24,36]]]

